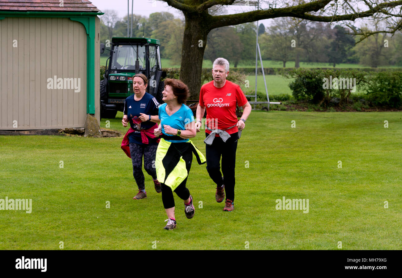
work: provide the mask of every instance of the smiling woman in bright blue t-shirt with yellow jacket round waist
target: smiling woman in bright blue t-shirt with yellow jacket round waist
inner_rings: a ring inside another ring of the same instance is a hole
[[[186,187],[187,176],[191,168],[193,153],[199,164],[205,163],[203,154],[193,145],[189,138],[195,137],[194,116],[185,105],[189,88],[177,79],[165,79],[165,90],[162,92],[165,102],[159,107],[161,123],[154,129],[154,135],[160,142],[156,151],[156,174],[161,184],[162,202],[168,215],[164,229],[176,228],[174,216],[174,191],[184,200],[187,218],[193,218],[193,196]]]

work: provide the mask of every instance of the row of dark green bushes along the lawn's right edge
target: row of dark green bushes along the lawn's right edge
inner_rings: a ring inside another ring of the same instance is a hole
[[[402,71],[365,72],[358,69],[305,69],[282,71],[295,78],[289,87],[296,100],[313,104],[345,106],[356,87],[370,106],[399,108],[402,106]]]

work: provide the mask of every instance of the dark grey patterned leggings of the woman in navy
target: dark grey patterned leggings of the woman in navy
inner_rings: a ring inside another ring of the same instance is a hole
[[[144,156],[144,169],[156,180],[155,156],[158,145],[139,145],[130,143],[130,154],[133,162],[133,176],[138,189],[145,189],[145,177],[142,172],[142,157]]]

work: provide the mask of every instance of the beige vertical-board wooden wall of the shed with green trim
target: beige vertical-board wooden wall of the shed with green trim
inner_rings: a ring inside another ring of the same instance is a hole
[[[67,18],[6,17],[0,20],[0,38],[0,129],[84,127],[85,27]],[[62,89],[48,89],[54,76],[80,78],[80,92],[64,82]]]

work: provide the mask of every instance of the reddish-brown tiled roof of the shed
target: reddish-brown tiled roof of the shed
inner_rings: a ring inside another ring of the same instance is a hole
[[[100,12],[88,0],[1,0],[0,11],[18,12]]]

